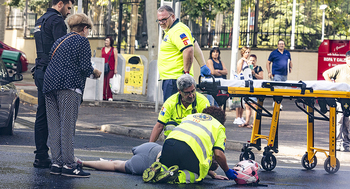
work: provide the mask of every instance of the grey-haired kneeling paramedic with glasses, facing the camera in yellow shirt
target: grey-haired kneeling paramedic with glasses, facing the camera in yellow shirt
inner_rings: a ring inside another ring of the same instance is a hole
[[[164,102],[149,142],[157,141],[163,129],[164,136],[167,137],[181,123],[182,118],[190,114],[201,113],[203,109],[210,106],[208,99],[196,92],[196,82],[192,76],[188,74],[180,76],[176,85],[179,92]]]

